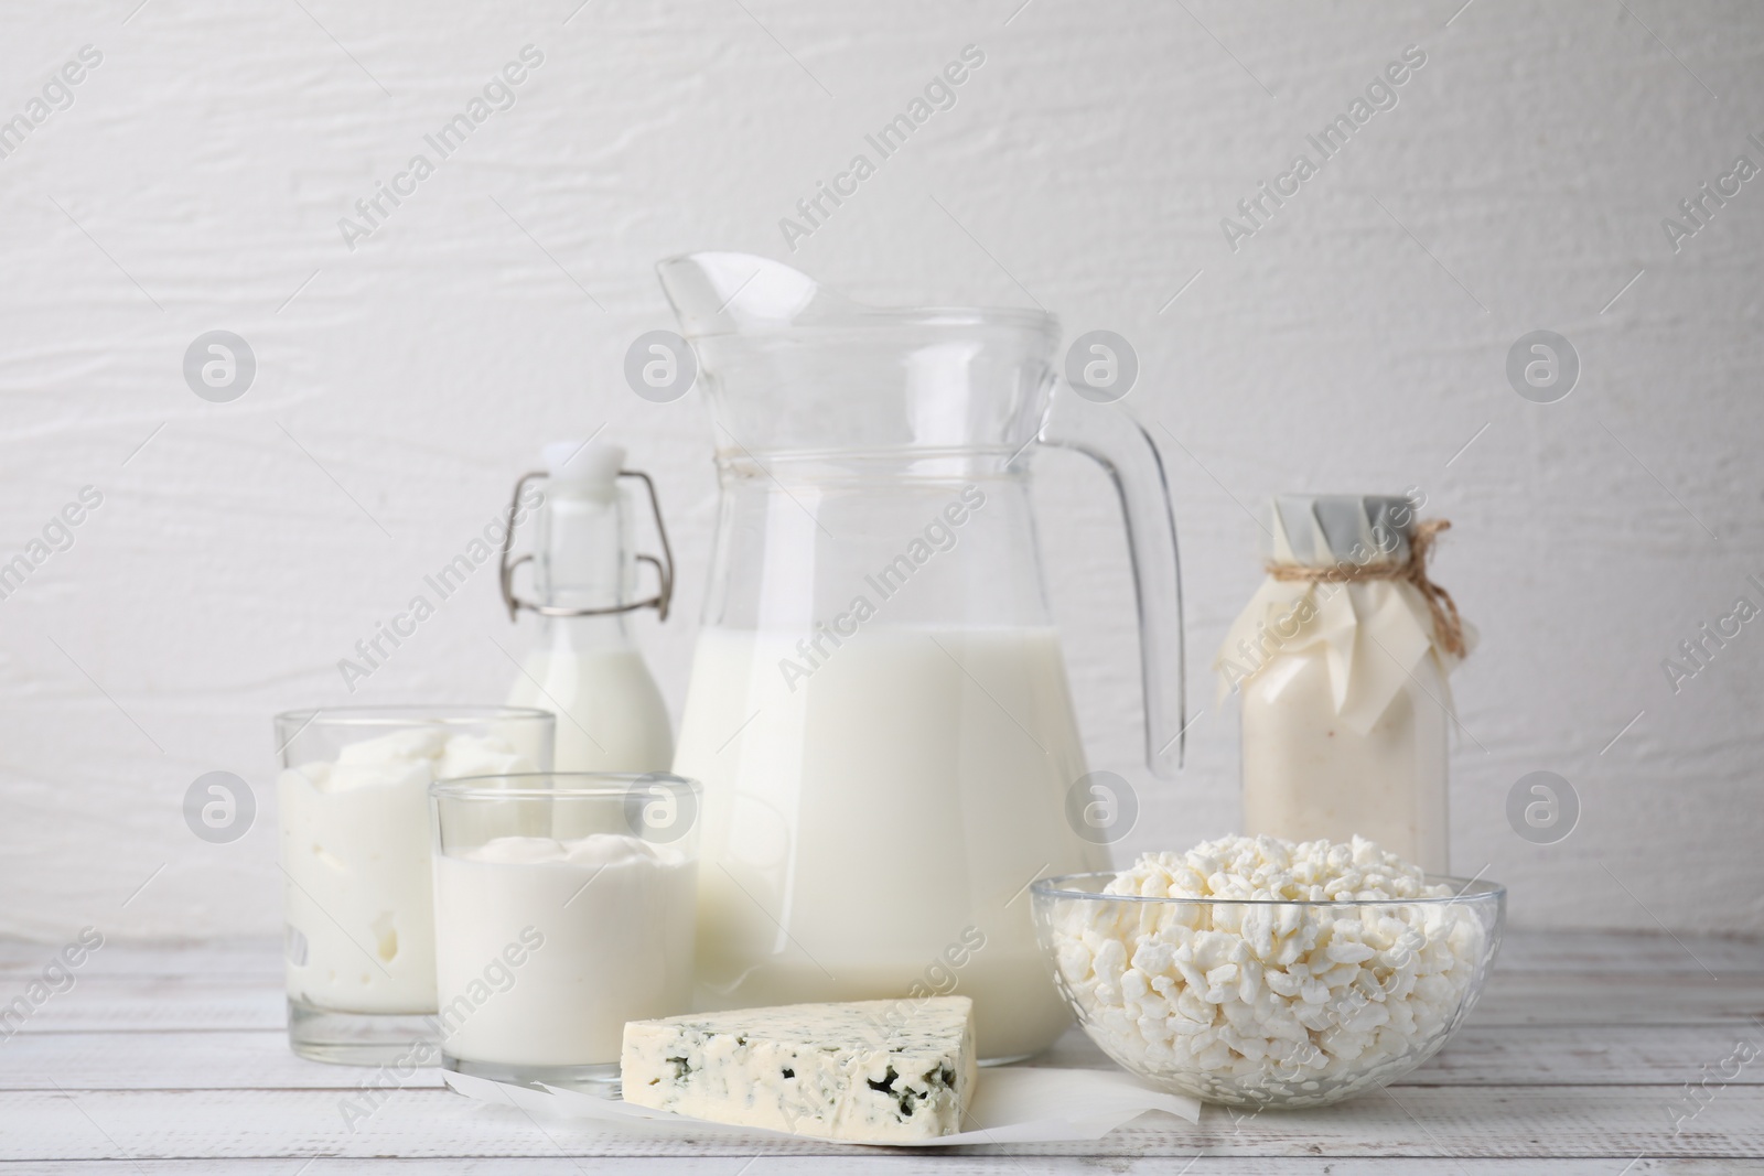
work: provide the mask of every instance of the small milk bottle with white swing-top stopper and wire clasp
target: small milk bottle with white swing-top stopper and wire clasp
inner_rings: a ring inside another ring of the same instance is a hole
[[[545,446],[534,585],[557,610],[612,610],[628,599],[628,515],[617,478],[624,450],[605,443]],[[674,733],[662,691],[624,612],[543,615],[508,703],[557,716],[556,770],[663,772]]]

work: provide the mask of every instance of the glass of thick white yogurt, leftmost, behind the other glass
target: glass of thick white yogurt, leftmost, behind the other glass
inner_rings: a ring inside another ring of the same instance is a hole
[[[316,1061],[434,1063],[429,785],[552,765],[522,707],[323,707],[275,716],[288,1038]],[[427,1056],[425,1056],[427,1054]]]

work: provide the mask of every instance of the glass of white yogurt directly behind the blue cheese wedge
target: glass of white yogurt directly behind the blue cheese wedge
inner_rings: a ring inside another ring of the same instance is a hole
[[[614,1093],[626,1021],[691,1009],[697,781],[432,785],[441,1065]]]

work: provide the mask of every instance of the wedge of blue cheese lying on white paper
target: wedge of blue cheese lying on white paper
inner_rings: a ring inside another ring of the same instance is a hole
[[[630,1021],[624,1100],[817,1139],[961,1130],[974,1093],[967,996],[732,1009]]]

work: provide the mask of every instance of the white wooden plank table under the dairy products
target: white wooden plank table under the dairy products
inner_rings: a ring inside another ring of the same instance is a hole
[[[0,943],[0,1005],[51,952]],[[407,1171],[519,1174],[1764,1171],[1759,942],[1514,934],[1459,1037],[1388,1091],[1252,1118],[1207,1107],[1200,1127],[1152,1114],[1094,1144],[933,1155],[600,1134],[471,1102],[432,1072],[351,1132],[339,1102],[367,1072],[295,1058],[282,1016],[273,943],[106,945],[0,1040],[0,1172],[323,1176],[393,1157]],[[1736,1049],[1755,1056],[1736,1067]],[[1076,1030],[1050,1061],[1108,1065]],[[1695,1100],[1686,1083],[1700,1084]]]

